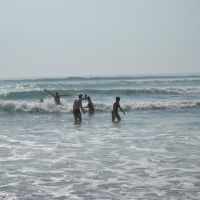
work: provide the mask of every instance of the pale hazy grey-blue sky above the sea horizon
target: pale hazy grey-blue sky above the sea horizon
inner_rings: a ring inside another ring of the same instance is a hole
[[[0,78],[200,73],[199,0],[0,0]]]

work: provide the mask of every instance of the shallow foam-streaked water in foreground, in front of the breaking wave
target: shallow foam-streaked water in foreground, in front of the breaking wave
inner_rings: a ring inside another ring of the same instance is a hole
[[[146,111],[112,123],[110,113],[98,113],[81,125],[69,114],[1,119],[0,198],[199,199],[199,117]]]

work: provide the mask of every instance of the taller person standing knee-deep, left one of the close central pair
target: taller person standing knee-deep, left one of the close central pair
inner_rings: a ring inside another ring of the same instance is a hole
[[[79,123],[81,123],[82,121],[81,110],[83,111],[83,113],[85,113],[85,110],[83,109],[83,106],[82,106],[82,96],[83,96],[82,94],[79,94],[78,98],[74,101],[74,104],[73,104],[74,120],[75,122],[79,122]]]

